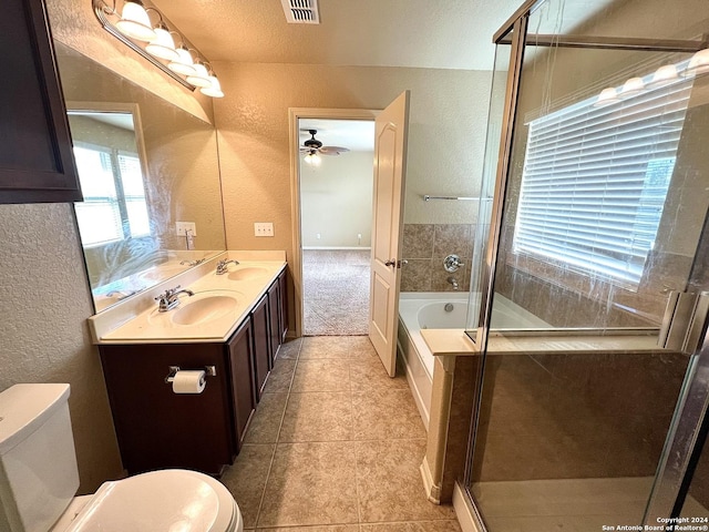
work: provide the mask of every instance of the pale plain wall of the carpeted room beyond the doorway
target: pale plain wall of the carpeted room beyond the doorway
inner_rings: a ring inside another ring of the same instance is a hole
[[[374,153],[350,152],[320,160],[319,166],[310,166],[300,158],[302,246],[369,247]]]

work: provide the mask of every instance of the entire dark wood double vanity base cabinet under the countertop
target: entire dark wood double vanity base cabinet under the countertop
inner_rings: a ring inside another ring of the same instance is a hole
[[[279,283],[270,285],[226,342],[99,346],[130,474],[186,468],[218,475],[234,462],[273,367],[271,352],[280,345],[280,314],[269,313],[269,303],[276,310],[287,304]],[[165,382],[171,366],[214,366],[216,376],[207,377],[202,393],[174,393]]]

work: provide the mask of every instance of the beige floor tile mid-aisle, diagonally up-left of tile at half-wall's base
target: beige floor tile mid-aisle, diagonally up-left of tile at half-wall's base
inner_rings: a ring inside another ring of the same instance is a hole
[[[278,441],[352,439],[352,399],[349,392],[290,393]]]

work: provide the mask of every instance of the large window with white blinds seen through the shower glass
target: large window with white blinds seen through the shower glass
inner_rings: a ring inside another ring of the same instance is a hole
[[[691,82],[530,123],[514,253],[637,287],[659,227]]]

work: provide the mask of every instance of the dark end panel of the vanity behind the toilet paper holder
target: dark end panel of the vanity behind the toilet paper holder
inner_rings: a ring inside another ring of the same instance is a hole
[[[164,468],[219,474],[234,461],[237,409],[230,374],[242,357],[232,357],[230,347],[232,342],[100,346],[121,458],[130,474]],[[207,377],[202,393],[174,393],[165,382],[171,366],[214,366],[216,376]]]

